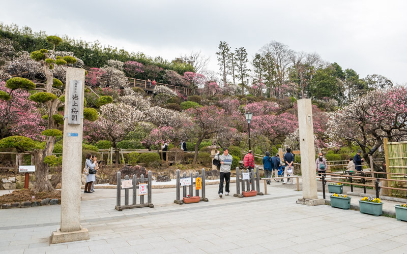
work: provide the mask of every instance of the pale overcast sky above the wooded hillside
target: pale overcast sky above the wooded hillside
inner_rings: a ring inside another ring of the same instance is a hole
[[[407,1],[5,1],[0,21],[171,60],[219,41],[249,59],[270,41],[316,52],[360,77],[407,83]],[[18,11],[17,11],[18,10]],[[43,14],[41,14],[43,13]]]

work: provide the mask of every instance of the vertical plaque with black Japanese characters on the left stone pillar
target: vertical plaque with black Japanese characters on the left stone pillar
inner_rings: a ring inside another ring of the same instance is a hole
[[[82,116],[82,80],[69,82],[68,124],[80,124]]]

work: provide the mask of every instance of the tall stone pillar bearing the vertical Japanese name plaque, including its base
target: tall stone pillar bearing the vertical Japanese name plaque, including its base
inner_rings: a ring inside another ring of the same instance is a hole
[[[68,68],[62,154],[61,228],[52,232],[51,243],[90,239],[88,230],[80,225],[84,84],[85,70]]]

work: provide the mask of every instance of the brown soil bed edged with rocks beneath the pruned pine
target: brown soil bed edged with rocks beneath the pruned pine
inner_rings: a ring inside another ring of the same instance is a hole
[[[36,194],[30,189],[16,189],[10,194],[0,196],[0,204],[13,204],[16,202],[21,203],[25,201],[40,202],[46,198],[58,199],[59,203],[61,204],[61,190],[56,190],[55,192],[40,192]]]

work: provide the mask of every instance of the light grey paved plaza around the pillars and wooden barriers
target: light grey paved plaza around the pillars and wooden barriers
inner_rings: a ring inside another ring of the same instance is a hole
[[[252,198],[233,197],[231,184],[222,199],[208,185],[209,202],[184,205],[175,188],[153,189],[154,208],[122,212],[115,189],[96,189],[81,202],[91,239],[62,244],[49,244],[60,205],[0,210],[0,253],[407,253],[407,222],[299,205],[302,192],[277,184]]]

